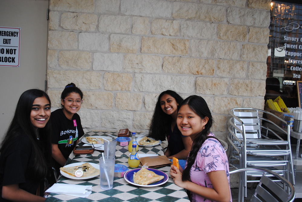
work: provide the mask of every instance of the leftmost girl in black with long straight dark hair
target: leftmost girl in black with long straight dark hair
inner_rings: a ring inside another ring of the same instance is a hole
[[[0,201],[46,200],[41,196],[50,167],[49,118],[50,99],[44,91],[22,93],[0,145]]]

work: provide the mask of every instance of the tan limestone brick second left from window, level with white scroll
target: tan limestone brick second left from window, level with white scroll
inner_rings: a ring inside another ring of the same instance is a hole
[[[225,41],[239,41],[247,40],[247,27],[229,24],[217,25],[217,38]]]

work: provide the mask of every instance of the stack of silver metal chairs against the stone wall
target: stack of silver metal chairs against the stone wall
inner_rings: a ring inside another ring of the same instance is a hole
[[[288,123],[270,112],[254,108],[234,108],[230,115],[227,137],[230,168],[269,169],[294,185],[290,127],[283,129],[265,117],[273,116],[284,124]],[[245,197],[247,183],[259,182],[261,176],[262,172],[248,170],[240,177]]]

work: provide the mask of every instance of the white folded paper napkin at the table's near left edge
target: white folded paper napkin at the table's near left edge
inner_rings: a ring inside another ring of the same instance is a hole
[[[66,194],[70,196],[76,196],[85,198],[88,197],[92,192],[92,185],[69,185],[56,183],[52,185],[46,192],[56,193],[56,194]]]

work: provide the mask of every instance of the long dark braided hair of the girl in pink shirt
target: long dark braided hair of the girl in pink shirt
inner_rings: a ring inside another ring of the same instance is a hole
[[[199,132],[199,134],[196,136],[196,138],[193,141],[193,145],[189,154],[189,157],[187,159],[187,167],[182,172],[182,181],[189,180],[190,179],[190,170],[193,166],[196,156],[198,154],[198,151],[201,148],[201,145],[206,140],[207,135],[210,133],[210,128],[213,124],[213,118],[212,114],[210,112],[209,107],[207,106],[206,101],[204,98],[198,96],[198,95],[191,95],[188,98],[186,98],[178,107],[182,107],[183,105],[188,104],[190,109],[196,113],[201,119],[204,119],[204,117],[208,117],[209,120],[207,124],[204,126],[204,129]]]

